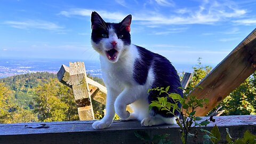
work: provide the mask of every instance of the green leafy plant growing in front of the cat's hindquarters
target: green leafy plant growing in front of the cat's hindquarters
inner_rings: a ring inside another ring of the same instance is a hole
[[[184,98],[182,98],[181,95],[177,93],[168,93],[169,87],[170,86],[167,86],[165,89],[164,87],[157,87],[155,89],[149,89],[148,92],[158,91],[159,95],[165,93],[172,101],[175,102],[168,102],[167,97],[158,97],[158,100],[151,101],[149,109],[157,107],[158,110],[165,110],[166,113],[171,113],[177,118],[176,121],[177,124],[180,126],[182,143],[187,143],[188,137],[196,137],[195,133],[190,132],[191,129],[193,129],[196,126],[200,127],[200,130],[205,133],[205,135],[203,136],[203,138],[206,139],[205,142],[209,141],[211,143],[216,143],[218,138],[214,137],[215,135],[212,132],[203,129],[203,126],[209,124],[210,121],[214,121],[213,117],[210,117],[209,119],[205,119],[202,121],[201,117],[195,116],[195,109],[197,107],[203,107],[203,105],[206,105],[209,100],[197,99],[194,95],[188,96],[188,92],[190,91],[190,89],[185,91]],[[202,89],[202,87],[199,88]],[[179,89],[182,89],[182,87],[179,87]],[[181,103],[181,107],[178,107],[178,102]],[[180,113],[180,117],[174,114],[175,110],[177,110]]]

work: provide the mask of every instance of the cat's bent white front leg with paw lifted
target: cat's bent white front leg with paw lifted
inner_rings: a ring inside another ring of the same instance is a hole
[[[121,119],[136,119],[134,113],[130,114],[126,106],[130,105],[139,98],[139,87],[126,87],[116,98],[115,111]]]

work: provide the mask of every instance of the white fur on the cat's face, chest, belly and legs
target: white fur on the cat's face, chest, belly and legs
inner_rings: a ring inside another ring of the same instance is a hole
[[[112,41],[117,42],[115,49],[118,51],[118,57],[115,61],[108,60],[105,54],[106,50],[110,50]],[[109,38],[103,38],[99,44],[92,41],[92,45],[100,53],[102,76],[108,90],[106,115],[100,121],[93,123],[94,129],[109,127],[115,113],[123,120],[138,119],[143,126],[175,123],[173,118],[149,116],[147,91],[155,81],[155,76],[153,69],[150,68],[146,84],[139,85],[134,81],[134,62],[140,59],[137,46],[131,44],[125,47],[113,29],[109,30]],[[131,114],[126,111],[126,106],[130,104],[134,111]]]

